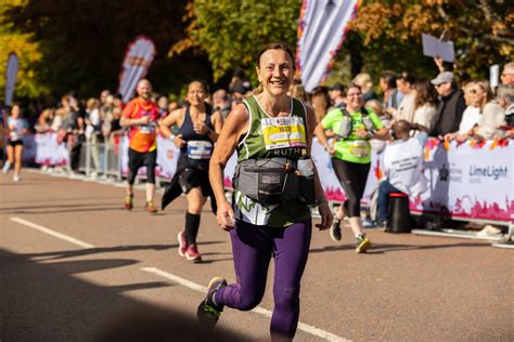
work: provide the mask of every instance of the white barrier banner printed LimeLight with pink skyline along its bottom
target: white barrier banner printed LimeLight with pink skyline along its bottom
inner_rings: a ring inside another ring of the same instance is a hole
[[[514,221],[514,145],[511,141],[425,144],[428,190],[411,211],[462,219]]]

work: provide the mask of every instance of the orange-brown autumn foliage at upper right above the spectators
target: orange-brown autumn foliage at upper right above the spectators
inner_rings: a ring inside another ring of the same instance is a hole
[[[421,35],[445,32],[460,70],[475,78],[511,62],[513,24],[512,3],[503,0],[364,0],[351,28],[361,37],[364,69],[374,74],[386,68],[433,77],[437,69],[422,54]]]

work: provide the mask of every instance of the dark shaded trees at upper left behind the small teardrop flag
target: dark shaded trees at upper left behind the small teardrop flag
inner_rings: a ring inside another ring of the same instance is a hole
[[[211,74],[205,55],[167,56],[169,47],[184,38],[187,0],[7,2],[1,27],[12,37],[30,37],[37,43],[41,55],[31,66],[40,84],[55,96],[68,91],[81,97],[98,95],[102,89],[115,91],[126,47],[138,35],[149,36],[156,45],[147,75],[156,90],[177,90],[184,78]],[[24,80],[21,75],[20,81]]]

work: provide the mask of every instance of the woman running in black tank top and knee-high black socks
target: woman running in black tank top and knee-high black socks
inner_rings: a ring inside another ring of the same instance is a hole
[[[208,95],[207,84],[193,81],[188,87],[188,105],[171,111],[160,121],[160,133],[171,137],[170,127],[179,127],[175,145],[180,148],[177,172],[163,195],[163,209],[180,194],[188,199],[185,226],[178,234],[179,255],[193,262],[201,262],[196,236],[198,235],[200,218],[208,196],[211,197],[213,212],[216,212],[216,200],[209,184],[209,160],[214,144],[218,140],[223,126],[223,117],[219,110],[205,103]]]

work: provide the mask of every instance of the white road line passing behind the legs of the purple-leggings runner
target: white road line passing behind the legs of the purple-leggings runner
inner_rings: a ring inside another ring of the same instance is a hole
[[[163,278],[169,279],[174,282],[180,284],[187,288],[190,288],[192,290],[202,292],[202,293],[207,293],[207,288],[205,286],[197,285],[196,282],[190,281],[188,279],[178,277],[176,275],[172,275],[170,273],[164,272],[162,269],[155,268],[155,267],[143,267],[141,271],[147,272],[147,273],[153,273],[157,276],[160,276]],[[271,312],[269,310],[266,310],[264,307],[257,306],[256,308],[253,310],[253,312],[264,315],[266,317],[271,317]],[[298,329],[303,330],[305,332],[308,332],[310,334],[313,334],[316,337],[326,339],[327,341],[350,341],[345,338],[338,337],[334,333],[331,333],[329,331],[325,331],[323,329],[316,328],[313,326],[309,326],[305,323],[299,321],[298,323]]]

